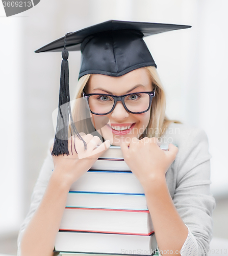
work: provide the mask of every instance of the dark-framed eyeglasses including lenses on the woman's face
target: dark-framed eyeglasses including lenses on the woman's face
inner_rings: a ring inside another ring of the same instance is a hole
[[[132,114],[145,113],[150,109],[153,97],[155,97],[155,89],[151,92],[129,93],[121,96],[83,92],[83,98],[87,99],[90,112],[95,115],[108,115],[114,110],[117,101],[121,101],[124,109]]]

